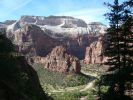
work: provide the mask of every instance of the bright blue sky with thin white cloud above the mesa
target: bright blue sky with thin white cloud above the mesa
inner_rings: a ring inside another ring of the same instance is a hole
[[[103,2],[113,0],[0,0],[0,22],[19,19],[22,15],[63,15],[83,19],[87,23],[107,24],[103,16],[107,7]],[[120,0],[123,1],[123,0]]]

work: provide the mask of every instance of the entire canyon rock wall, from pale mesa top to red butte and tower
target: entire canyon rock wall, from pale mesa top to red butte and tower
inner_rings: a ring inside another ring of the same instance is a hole
[[[0,23],[16,50],[44,68],[58,72],[80,72],[80,60],[101,64],[107,27],[87,24],[70,16],[22,16]]]

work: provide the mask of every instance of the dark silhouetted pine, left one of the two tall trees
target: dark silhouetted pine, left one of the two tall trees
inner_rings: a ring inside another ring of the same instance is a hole
[[[110,28],[107,30],[108,35],[108,48],[106,48],[105,56],[109,57],[107,65],[110,66],[110,77],[112,77],[112,82],[110,84],[110,94],[113,96],[118,94],[118,82],[120,81],[120,36],[121,36],[121,21],[122,21],[122,11],[123,6],[118,3],[118,0],[114,1],[114,5],[107,4],[111,8],[111,12],[107,13],[106,16],[110,20]]]

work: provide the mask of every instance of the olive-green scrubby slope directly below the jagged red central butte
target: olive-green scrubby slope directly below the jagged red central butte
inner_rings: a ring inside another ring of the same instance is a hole
[[[50,84],[54,88],[57,87],[74,87],[87,84],[92,77],[83,74],[64,74],[44,69],[41,64],[34,64],[33,68],[37,71],[42,85]]]

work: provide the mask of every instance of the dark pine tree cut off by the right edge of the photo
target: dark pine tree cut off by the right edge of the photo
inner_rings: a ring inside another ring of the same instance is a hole
[[[124,95],[127,88],[127,83],[132,84],[133,73],[133,0],[128,0],[123,3],[123,18],[121,25],[121,81],[120,81],[120,94]]]

